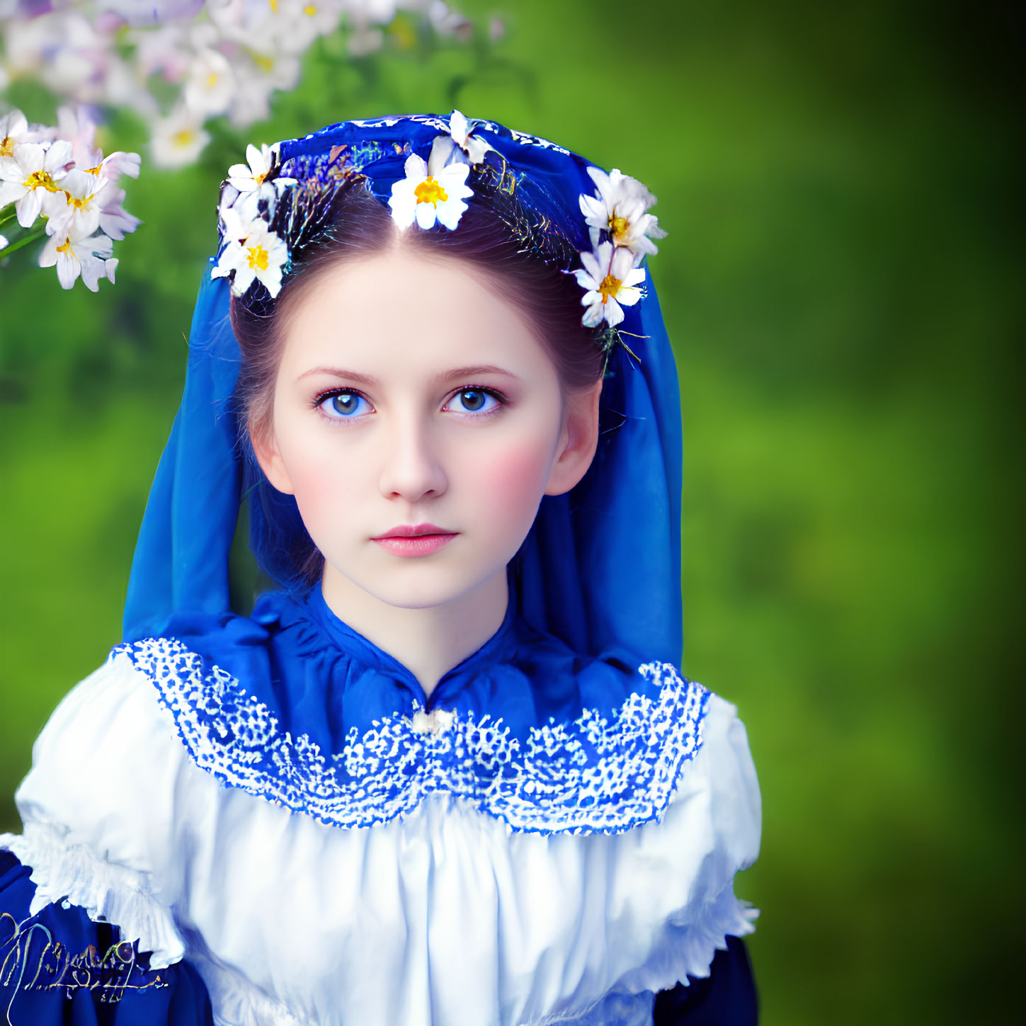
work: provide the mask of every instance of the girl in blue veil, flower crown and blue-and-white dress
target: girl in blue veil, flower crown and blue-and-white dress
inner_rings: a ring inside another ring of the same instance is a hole
[[[459,112],[232,168],[125,641],[0,837],[13,1026],[755,1021],[654,202]]]

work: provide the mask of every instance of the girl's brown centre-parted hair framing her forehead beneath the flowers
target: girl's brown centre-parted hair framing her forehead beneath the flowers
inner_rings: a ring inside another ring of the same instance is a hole
[[[397,233],[388,208],[357,183],[339,191],[329,225],[302,253],[292,254],[292,270],[275,301],[262,304],[232,297],[232,328],[242,352],[237,398],[250,433],[259,436],[273,423],[282,328],[304,292],[327,268],[397,245],[464,261],[482,274],[524,317],[552,359],[564,391],[587,388],[602,377],[602,352],[594,332],[581,323],[580,286],[571,275],[521,252],[486,202],[471,200],[456,231],[439,226]]]

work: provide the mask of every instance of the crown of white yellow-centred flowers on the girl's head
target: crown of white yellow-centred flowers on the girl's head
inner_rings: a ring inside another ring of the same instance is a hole
[[[456,231],[467,200],[475,191],[486,195],[521,251],[576,277],[585,290],[581,322],[598,329],[599,345],[608,352],[616,343],[622,344],[617,325],[624,319],[623,308],[633,306],[643,294],[645,272],[640,264],[647,253],[658,251],[653,239],[666,235],[657,218],[647,212],[656,197],[618,169],[606,174],[589,166],[596,193],[582,194],[579,204],[591,249],[580,251],[551,219],[524,202],[523,190],[518,188],[522,176],[495,147],[474,134],[482,122],[469,121],[453,111],[447,125],[437,123],[448,131],[434,139],[427,160],[412,153],[408,143],[337,146],[319,158],[316,167],[308,166],[311,173],[302,180],[282,174],[277,144],[260,150],[249,145],[248,166],[233,164],[222,183],[222,245],[211,277],[229,278],[237,297],[260,282],[274,299],[282,276],[291,269],[292,254],[324,227],[336,191],[346,183],[366,181],[360,168],[372,160],[405,155],[405,176],[392,186],[388,201],[400,228],[416,224],[427,230],[437,223]]]

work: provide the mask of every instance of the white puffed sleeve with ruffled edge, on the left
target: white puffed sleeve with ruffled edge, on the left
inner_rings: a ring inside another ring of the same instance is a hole
[[[14,796],[24,832],[0,834],[0,850],[31,873],[28,916],[67,901],[93,922],[116,923],[152,969],[179,961],[185,756],[153,685],[126,656],[112,655],[64,699],[32,755]]]

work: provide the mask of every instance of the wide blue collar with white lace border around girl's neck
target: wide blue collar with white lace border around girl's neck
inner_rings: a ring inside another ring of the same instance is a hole
[[[513,603],[425,702],[416,677],[316,592],[251,617],[179,618],[117,646],[154,685],[193,761],[339,827],[449,795],[546,833],[658,820],[702,746],[709,693],[622,649],[579,657]]]

